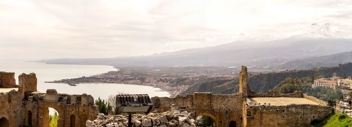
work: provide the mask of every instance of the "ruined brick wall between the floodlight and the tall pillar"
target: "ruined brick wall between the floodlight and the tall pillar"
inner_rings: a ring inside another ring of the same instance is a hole
[[[188,112],[194,112],[195,118],[207,115],[214,119],[217,126],[228,126],[235,121],[242,126],[242,93],[233,95],[218,95],[196,92],[192,95],[169,97],[152,97],[153,110],[163,112],[175,104]]]

